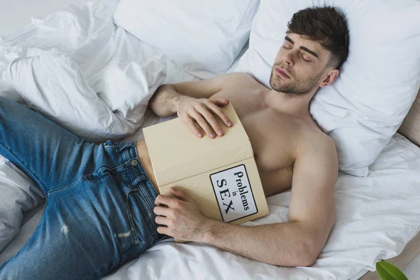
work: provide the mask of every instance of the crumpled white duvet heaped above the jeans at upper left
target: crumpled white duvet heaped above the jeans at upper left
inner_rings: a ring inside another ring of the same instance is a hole
[[[118,140],[138,130],[159,85],[194,77],[115,27],[116,3],[69,6],[0,41],[2,94],[25,99],[89,141]]]

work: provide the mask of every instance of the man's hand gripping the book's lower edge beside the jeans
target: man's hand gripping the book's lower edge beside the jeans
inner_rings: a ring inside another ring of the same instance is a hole
[[[158,195],[155,204],[164,204],[167,207],[157,206],[153,209],[156,215],[155,222],[158,232],[185,241],[201,241],[211,223],[211,219],[201,214],[195,201],[179,188],[171,188],[174,197]]]

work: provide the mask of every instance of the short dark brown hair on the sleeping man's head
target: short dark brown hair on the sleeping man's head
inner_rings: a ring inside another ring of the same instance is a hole
[[[318,41],[331,52],[328,65],[339,69],[349,56],[349,29],[344,15],[334,7],[311,7],[299,10],[288,22],[287,34],[295,33]]]

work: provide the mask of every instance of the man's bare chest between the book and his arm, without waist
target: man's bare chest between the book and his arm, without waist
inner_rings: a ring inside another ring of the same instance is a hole
[[[262,97],[256,92],[237,94],[225,90],[214,94],[214,98],[232,102],[251,141],[265,196],[290,189],[297,137],[293,120],[260,106]]]

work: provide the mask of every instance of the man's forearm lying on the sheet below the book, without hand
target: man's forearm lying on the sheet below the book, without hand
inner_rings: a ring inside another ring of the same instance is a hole
[[[298,222],[244,226],[211,220],[200,241],[272,265],[309,266],[309,239]]]

